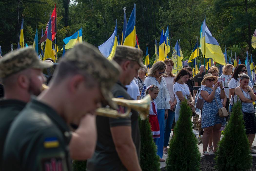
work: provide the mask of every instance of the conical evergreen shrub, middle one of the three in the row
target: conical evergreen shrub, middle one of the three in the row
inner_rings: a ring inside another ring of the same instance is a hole
[[[179,113],[179,120],[174,128],[174,138],[170,140],[166,168],[167,170],[200,170],[201,156],[192,131],[192,111],[186,101],[181,103]]]

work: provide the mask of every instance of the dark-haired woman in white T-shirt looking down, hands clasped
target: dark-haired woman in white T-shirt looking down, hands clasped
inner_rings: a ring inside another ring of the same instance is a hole
[[[189,74],[187,69],[181,69],[177,74],[176,78],[174,79],[175,84],[173,86],[173,91],[177,100],[174,116],[176,123],[179,120],[180,102],[186,100],[190,107],[195,106],[195,100],[193,96],[191,96],[191,92],[188,88],[188,85],[186,84],[190,76],[191,75]]]

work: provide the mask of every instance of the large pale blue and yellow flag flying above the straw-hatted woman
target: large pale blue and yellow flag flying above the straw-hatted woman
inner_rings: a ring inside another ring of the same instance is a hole
[[[217,40],[212,37],[210,30],[204,20],[200,33],[201,52],[205,58],[212,58],[215,62],[226,65],[225,57]]]

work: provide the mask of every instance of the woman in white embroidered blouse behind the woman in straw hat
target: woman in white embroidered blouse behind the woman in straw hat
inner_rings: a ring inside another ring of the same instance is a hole
[[[220,76],[221,82],[222,82],[222,85],[223,85],[223,87],[225,89],[225,93],[226,93],[226,97],[227,97],[227,101],[226,101],[226,105],[225,105],[227,111],[229,110],[228,82],[229,82],[230,78],[232,77],[233,67],[234,66],[231,65],[231,64],[227,64],[227,65],[223,66],[223,68],[222,68],[222,75]]]

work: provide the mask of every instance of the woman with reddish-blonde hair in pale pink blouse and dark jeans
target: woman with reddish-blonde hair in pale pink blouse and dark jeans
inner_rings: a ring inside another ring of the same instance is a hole
[[[163,154],[167,154],[167,146],[170,139],[170,133],[173,125],[174,115],[175,115],[175,106],[177,103],[177,100],[175,98],[174,92],[173,92],[173,85],[174,85],[174,79],[175,75],[172,73],[173,71],[173,61],[171,59],[165,59],[164,63],[166,64],[166,76],[164,76],[167,84],[167,89],[170,94],[170,109],[168,109],[168,117],[165,119],[165,128],[164,128],[164,150]]]

